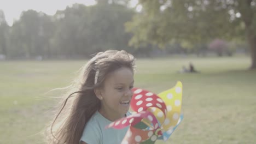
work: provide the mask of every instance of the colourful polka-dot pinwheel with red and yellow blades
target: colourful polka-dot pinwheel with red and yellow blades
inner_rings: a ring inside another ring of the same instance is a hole
[[[127,116],[107,125],[107,128],[122,129],[130,126],[122,144],[153,144],[166,141],[183,119],[181,114],[182,83],[156,95],[141,88],[133,88],[131,109]]]

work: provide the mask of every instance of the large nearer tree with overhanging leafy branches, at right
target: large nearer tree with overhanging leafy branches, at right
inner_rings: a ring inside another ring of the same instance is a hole
[[[126,23],[130,45],[205,44],[212,39],[248,40],[256,69],[255,0],[140,0],[141,13]],[[185,41],[185,42],[184,42]]]

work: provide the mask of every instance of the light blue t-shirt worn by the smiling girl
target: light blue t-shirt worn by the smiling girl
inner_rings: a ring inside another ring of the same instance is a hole
[[[127,112],[126,116],[131,115]],[[106,129],[106,125],[112,123],[96,111],[84,128],[80,141],[88,144],[120,144],[129,127],[123,129]]]

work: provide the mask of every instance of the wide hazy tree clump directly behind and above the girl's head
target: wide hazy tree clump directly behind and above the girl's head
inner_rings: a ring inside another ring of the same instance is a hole
[[[107,49],[130,51],[131,34],[125,33],[124,23],[133,11],[125,5],[102,1],[91,7],[74,4],[55,14],[55,50],[64,56],[84,57]]]

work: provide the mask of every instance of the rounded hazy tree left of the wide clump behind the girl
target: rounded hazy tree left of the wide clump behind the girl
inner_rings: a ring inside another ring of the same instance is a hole
[[[34,10],[22,11],[20,20],[15,21],[10,28],[10,56],[49,56],[50,39],[54,32],[50,16]]]

